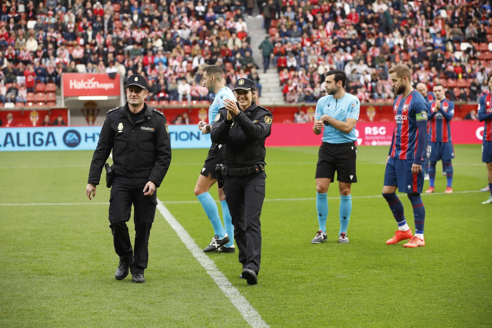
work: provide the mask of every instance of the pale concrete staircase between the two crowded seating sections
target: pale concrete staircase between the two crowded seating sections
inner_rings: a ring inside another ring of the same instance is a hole
[[[258,8],[255,7],[253,11],[253,17],[245,15],[245,22],[249,35],[251,36],[251,49],[253,50],[253,58],[260,75],[260,84],[262,87],[261,98],[259,103],[262,105],[284,104],[284,98],[282,89],[280,87],[280,78],[278,76],[277,68],[269,68],[266,73],[263,73],[263,56],[261,50],[258,49],[260,43],[265,39],[265,29],[263,28],[263,17],[259,16]],[[270,67],[273,66],[270,61]]]

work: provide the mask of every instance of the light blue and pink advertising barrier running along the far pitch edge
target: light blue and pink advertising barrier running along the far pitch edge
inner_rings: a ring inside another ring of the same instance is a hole
[[[275,117],[274,117],[275,118]],[[274,124],[267,146],[318,146],[321,135],[312,132],[312,123]],[[395,123],[359,122],[357,145],[390,145]],[[24,127],[0,129],[0,151],[94,150],[101,127]],[[454,144],[480,144],[484,125],[476,121],[451,122]],[[169,125],[171,147],[209,148],[210,134],[195,124]]]

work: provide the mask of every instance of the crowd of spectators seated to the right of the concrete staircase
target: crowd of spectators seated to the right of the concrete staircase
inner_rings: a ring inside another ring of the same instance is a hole
[[[277,67],[287,102],[324,96],[334,68],[362,102],[391,101],[395,64],[411,68],[414,84],[442,83],[451,100],[476,101],[487,90],[490,0],[269,0],[262,13],[264,69]]]

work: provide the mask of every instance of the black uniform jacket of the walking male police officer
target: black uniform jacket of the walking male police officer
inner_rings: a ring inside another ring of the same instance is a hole
[[[159,187],[171,163],[171,141],[164,114],[144,103],[137,122],[128,114],[128,103],[107,112],[92,157],[88,183],[99,184],[101,170],[113,149],[115,173],[149,178]]]

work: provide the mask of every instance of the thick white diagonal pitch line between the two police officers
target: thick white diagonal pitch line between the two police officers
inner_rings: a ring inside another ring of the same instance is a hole
[[[224,274],[218,269],[214,261],[203,253],[198,247],[193,238],[184,230],[183,226],[174,218],[164,204],[157,199],[157,209],[160,214],[166,219],[167,223],[178,234],[183,241],[186,248],[191,252],[195,259],[203,266],[207,273],[214,279],[215,284],[224,292],[224,294],[230,299],[232,304],[239,310],[243,318],[251,327],[269,327],[260,314],[249,304],[246,298],[239,293],[239,291],[232,286],[231,282],[224,276]]]

